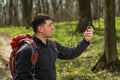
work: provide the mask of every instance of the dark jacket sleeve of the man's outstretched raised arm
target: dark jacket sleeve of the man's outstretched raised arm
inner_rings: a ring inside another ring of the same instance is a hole
[[[65,47],[56,42],[58,49],[58,58],[64,60],[74,59],[83,53],[89,44],[90,42],[86,42],[84,39],[73,47]]]

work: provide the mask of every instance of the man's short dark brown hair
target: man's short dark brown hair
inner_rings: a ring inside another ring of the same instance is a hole
[[[51,20],[51,17],[47,14],[41,13],[37,14],[32,19],[32,28],[33,31],[37,32],[37,27],[41,24],[44,24],[46,20]]]

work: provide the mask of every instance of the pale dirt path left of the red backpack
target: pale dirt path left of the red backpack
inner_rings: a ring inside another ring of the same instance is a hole
[[[10,80],[11,75],[8,67],[11,47],[9,45],[10,37],[0,34],[0,80]]]

